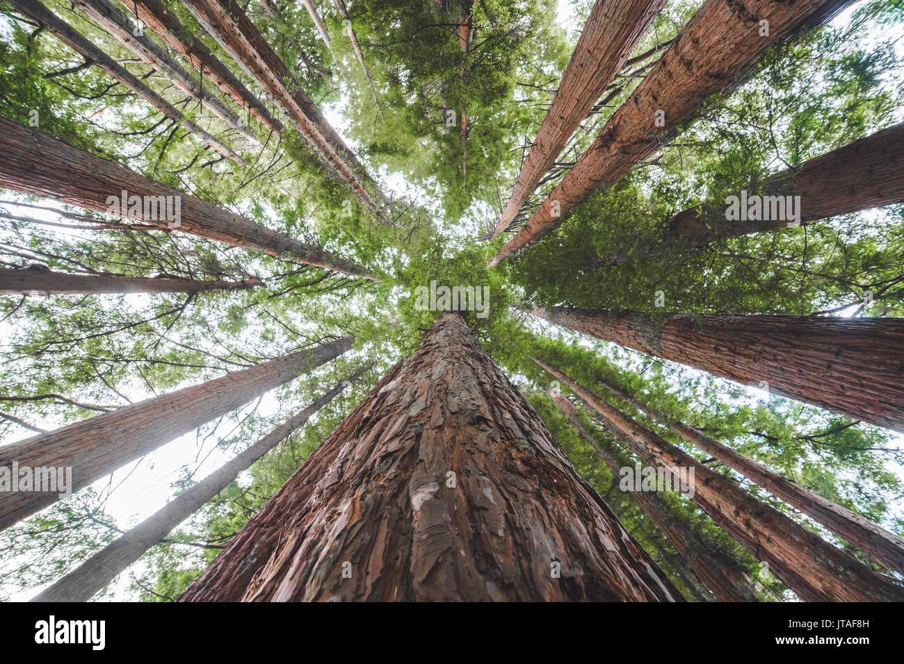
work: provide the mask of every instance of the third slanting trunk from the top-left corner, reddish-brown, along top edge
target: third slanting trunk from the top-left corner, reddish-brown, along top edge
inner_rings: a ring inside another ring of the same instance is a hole
[[[153,30],[163,42],[192,64],[194,70],[211,79],[241,108],[246,109],[258,122],[277,133],[283,124],[270,115],[264,103],[193,35],[176,15],[160,0],[119,0],[131,14]]]

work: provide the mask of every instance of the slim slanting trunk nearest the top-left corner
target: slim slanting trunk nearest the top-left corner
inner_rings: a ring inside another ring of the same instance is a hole
[[[25,16],[42,23],[42,25],[46,25],[47,29],[57,39],[69,46],[73,51],[80,53],[87,61],[96,65],[100,70],[106,71],[127,89],[135,92],[140,98],[145,99],[148,104],[166,117],[174,120],[185,131],[197,136],[205,145],[242,167],[250,166],[245,161],[245,158],[235,152],[229,145],[225,145],[218,138],[211,136],[192,120],[185,117],[182,111],[175,108],[154,90],[148,88],[146,83],[129,73],[125,67],[109,57],[107,53],[101,51],[85,36],[72,28],[71,25],[39,3],[38,0],[9,0],[9,4]]]

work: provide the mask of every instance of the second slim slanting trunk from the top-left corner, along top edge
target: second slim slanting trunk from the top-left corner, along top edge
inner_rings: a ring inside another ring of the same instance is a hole
[[[124,14],[118,6],[108,3],[107,0],[73,0],[73,2],[81,11],[97,21],[104,30],[123,42],[141,60],[154,67],[155,70],[165,73],[179,89],[210,108],[217,117],[239,132],[245,140],[259,145],[258,137],[248,129],[248,123],[243,122],[219,98],[213,97],[212,90],[205,91],[197,85],[192,74],[185,71],[181,64],[157,46],[149,36],[135,34],[132,19]]]

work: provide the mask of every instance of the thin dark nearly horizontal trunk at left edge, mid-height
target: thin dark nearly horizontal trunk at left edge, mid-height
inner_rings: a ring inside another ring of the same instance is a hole
[[[67,275],[43,266],[0,267],[0,295],[25,293],[197,293],[231,291],[263,285],[248,281],[202,281],[164,276]]]

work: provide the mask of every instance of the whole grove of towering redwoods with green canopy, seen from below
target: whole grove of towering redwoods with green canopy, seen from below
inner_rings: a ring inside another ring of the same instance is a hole
[[[571,9],[0,2],[0,592],[904,598],[904,17]]]

